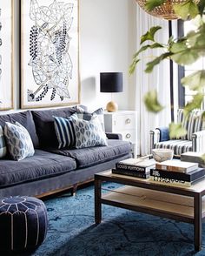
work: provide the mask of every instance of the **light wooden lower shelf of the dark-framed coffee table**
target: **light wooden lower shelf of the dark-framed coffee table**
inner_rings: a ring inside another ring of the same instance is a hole
[[[194,223],[194,199],[186,196],[124,185],[113,192],[102,194],[101,203]],[[205,217],[204,200],[202,212]]]

